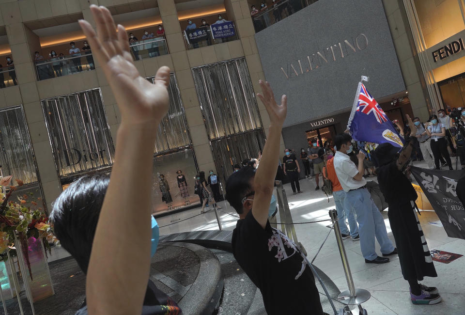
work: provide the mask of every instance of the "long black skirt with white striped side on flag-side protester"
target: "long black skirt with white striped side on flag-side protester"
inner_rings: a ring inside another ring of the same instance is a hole
[[[414,202],[389,205],[387,216],[396,240],[403,278],[421,281],[423,277],[437,277]]]

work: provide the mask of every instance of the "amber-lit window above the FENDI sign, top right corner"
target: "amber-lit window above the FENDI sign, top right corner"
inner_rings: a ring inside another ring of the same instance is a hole
[[[457,0],[414,0],[414,3],[426,48],[465,28]]]

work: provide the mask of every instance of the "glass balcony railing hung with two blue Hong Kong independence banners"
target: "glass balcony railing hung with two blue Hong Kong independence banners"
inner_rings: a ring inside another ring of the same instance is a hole
[[[207,27],[183,31],[187,49],[221,44],[237,39],[234,23],[226,21]]]

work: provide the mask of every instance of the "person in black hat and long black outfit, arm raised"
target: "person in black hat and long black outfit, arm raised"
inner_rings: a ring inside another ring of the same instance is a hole
[[[418,141],[417,128],[408,115],[407,120],[410,137],[406,137],[400,153],[399,147],[390,143],[380,144],[374,152],[380,165],[376,172],[379,188],[389,205],[387,216],[396,241],[402,275],[410,285],[410,299],[413,304],[436,304],[441,301],[437,288],[418,284],[423,277],[437,277],[437,273],[415,212],[417,192],[408,179],[409,168],[405,168]]]

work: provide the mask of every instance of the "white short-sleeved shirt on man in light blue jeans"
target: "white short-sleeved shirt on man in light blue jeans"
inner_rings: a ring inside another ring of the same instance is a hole
[[[367,181],[363,177],[362,180],[354,179],[354,176],[358,174],[358,169],[355,163],[350,160],[350,157],[341,151],[336,151],[336,155],[334,156],[334,170],[345,192],[358,189],[367,184]]]

